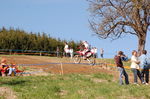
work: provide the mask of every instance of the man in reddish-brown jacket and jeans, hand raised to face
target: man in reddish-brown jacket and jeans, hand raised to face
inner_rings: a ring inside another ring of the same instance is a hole
[[[123,66],[123,62],[124,59],[126,59],[126,56],[123,54],[122,51],[118,52],[118,55],[116,55],[114,57],[115,63],[117,65],[118,71],[119,71],[119,81],[120,81],[120,85],[123,85],[123,76],[125,77],[125,83],[128,85],[129,84],[129,80],[128,80],[128,74],[126,73],[124,66]]]

